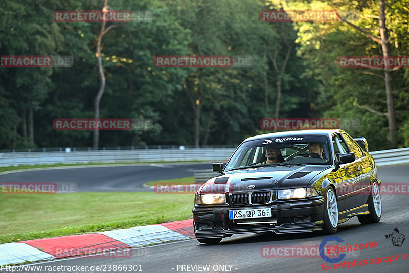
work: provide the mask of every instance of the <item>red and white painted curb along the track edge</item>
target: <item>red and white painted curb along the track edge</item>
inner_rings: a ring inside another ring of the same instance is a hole
[[[193,221],[0,244],[0,265],[36,262],[195,238]]]

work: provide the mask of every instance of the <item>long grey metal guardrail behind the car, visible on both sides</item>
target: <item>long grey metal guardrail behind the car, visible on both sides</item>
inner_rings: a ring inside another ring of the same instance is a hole
[[[158,161],[225,161],[234,148],[105,150],[0,153],[0,167],[56,163],[124,163]],[[370,152],[378,166],[409,163],[409,148]]]

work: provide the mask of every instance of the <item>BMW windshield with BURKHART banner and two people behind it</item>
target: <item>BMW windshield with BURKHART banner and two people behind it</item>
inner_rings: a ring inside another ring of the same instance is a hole
[[[226,165],[226,171],[271,165],[330,164],[328,139],[322,136],[276,137],[244,142]]]

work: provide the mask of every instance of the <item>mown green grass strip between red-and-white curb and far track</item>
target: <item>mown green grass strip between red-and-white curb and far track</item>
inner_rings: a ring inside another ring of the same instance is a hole
[[[192,218],[193,194],[152,192],[0,195],[0,243]]]

